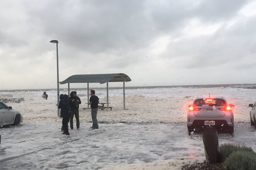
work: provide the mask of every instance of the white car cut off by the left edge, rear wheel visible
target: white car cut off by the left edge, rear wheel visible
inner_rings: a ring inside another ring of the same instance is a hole
[[[8,124],[19,125],[23,122],[22,114],[0,101],[0,127]]]

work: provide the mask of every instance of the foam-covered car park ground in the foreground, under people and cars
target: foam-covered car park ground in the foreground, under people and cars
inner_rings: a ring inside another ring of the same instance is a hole
[[[202,135],[187,134],[186,123],[91,123],[61,134],[60,124],[21,124],[0,129],[0,169],[101,169],[122,163],[176,157],[204,157]],[[256,131],[236,123],[234,137],[219,133],[219,144],[244,144],[256,151]]]

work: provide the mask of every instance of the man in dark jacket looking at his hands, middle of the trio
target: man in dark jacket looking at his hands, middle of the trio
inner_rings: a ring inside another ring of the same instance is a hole
[[[76,96],[76,91],[72,91],[69,97],[69,106],[71,108],[71,116],[70,116],[70,128],[74,129],[73,127],[73,118],[75,115],[76,119],[76,128],[79,129],[80,122],[79,122],[79,104],[81,104],[81,100],[78,96]]]

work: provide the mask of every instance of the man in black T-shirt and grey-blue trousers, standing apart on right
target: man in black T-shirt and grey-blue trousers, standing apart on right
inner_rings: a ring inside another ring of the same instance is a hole
[[[91,90],[91,97],[89,100],[89,104],[91,105],[91,119],[92,119],[92,129],[99,129],[98,121],[97,121],[97,112],[98,112],[98,103],[99,98],[95,95],[95,91]]]

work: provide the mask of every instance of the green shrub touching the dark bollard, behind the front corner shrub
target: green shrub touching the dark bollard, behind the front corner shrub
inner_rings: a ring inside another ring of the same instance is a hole
[[[234,151],[254,152],[251,147],[247,147],[245,145],[232,145],[230,143],[221,144],[219,147],[219,150],[220,150],[219,153],[220,153],[221,162],[226,161],[229,155]]]

